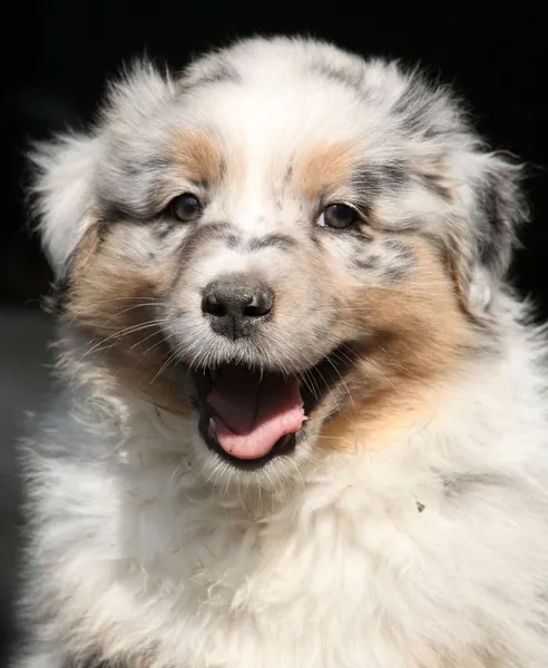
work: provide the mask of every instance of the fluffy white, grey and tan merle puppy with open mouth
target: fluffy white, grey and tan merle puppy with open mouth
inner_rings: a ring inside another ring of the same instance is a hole
[[[61,389],[18,668],[546,668],[521,169],[307,39],[137,65],[39,146]]]

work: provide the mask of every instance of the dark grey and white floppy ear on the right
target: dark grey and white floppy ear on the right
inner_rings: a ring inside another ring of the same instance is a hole
[[[452,239],[453,269],[467,311],[485,317],[510,267],[518,228],[528,219],[522,166],[501,154],[471,153],[463,167],[464,229]]]

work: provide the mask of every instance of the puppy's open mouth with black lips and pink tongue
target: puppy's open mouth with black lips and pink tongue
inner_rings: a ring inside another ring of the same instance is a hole
[[[288,455],[348,364],[334,351],[299,375],[232,363],[196,371],[192,376],[199,433],[222,459],[241,469]]]

